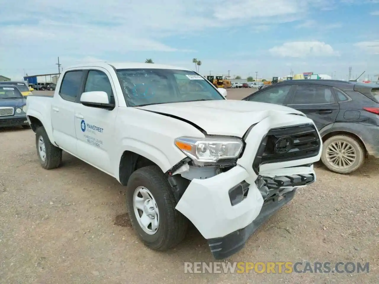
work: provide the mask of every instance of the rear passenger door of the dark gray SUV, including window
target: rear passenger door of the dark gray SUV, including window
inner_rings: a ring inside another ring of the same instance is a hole
[[[314,84],[296,85],[288,106],[307,115],[318,130],[334,123],[340,111],[332,88]]]

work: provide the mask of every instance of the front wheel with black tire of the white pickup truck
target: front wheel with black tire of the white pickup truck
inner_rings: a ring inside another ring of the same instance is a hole
[[[126,198],[132,226],[147,247],[166,251],[184,239],[188,219],[175,209],[174,194],[158,166],[133,172]]]

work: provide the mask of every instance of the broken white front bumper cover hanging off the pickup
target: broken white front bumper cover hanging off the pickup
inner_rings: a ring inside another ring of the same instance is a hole
[[[281,172],[283,174],[281,174]],[[264,175],[264,173],[262,173]],[[283,176],[312,175],[313,179],[307,183],[298,183],[297,180],[283,178]],[[281,179],[278,194],[291,191],[295,187],[302,187],[315,181],[313,166],[282,169],[274,175],[264,175],[269,190],[277,190],[278,180]],[[282,177],[282,178],[277,178]],[[236,185],[253,179],[241,166],[236,165],[227,172],[220,173],[207,179],[193,179],[175,207],[185,215],[200,231],[205,239],[218,239],[246,228],[261,213],[264,203],[262,188],[254,182],[248,182],[247,196],[238,204],[232,205],[229,190]],[[272,179],[275,182],[270,181]]]

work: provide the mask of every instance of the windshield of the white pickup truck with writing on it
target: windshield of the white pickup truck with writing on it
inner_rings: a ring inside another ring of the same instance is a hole
[[[202,76],[174,69],[118,69],[128,106],[225,100]]]

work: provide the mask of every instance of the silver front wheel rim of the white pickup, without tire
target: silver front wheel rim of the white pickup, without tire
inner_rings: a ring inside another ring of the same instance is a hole
[[[149,235],[157,233],[159,227],[159,211],[151,192],[143,186],[134,191],[133,209],[139,226]]]

